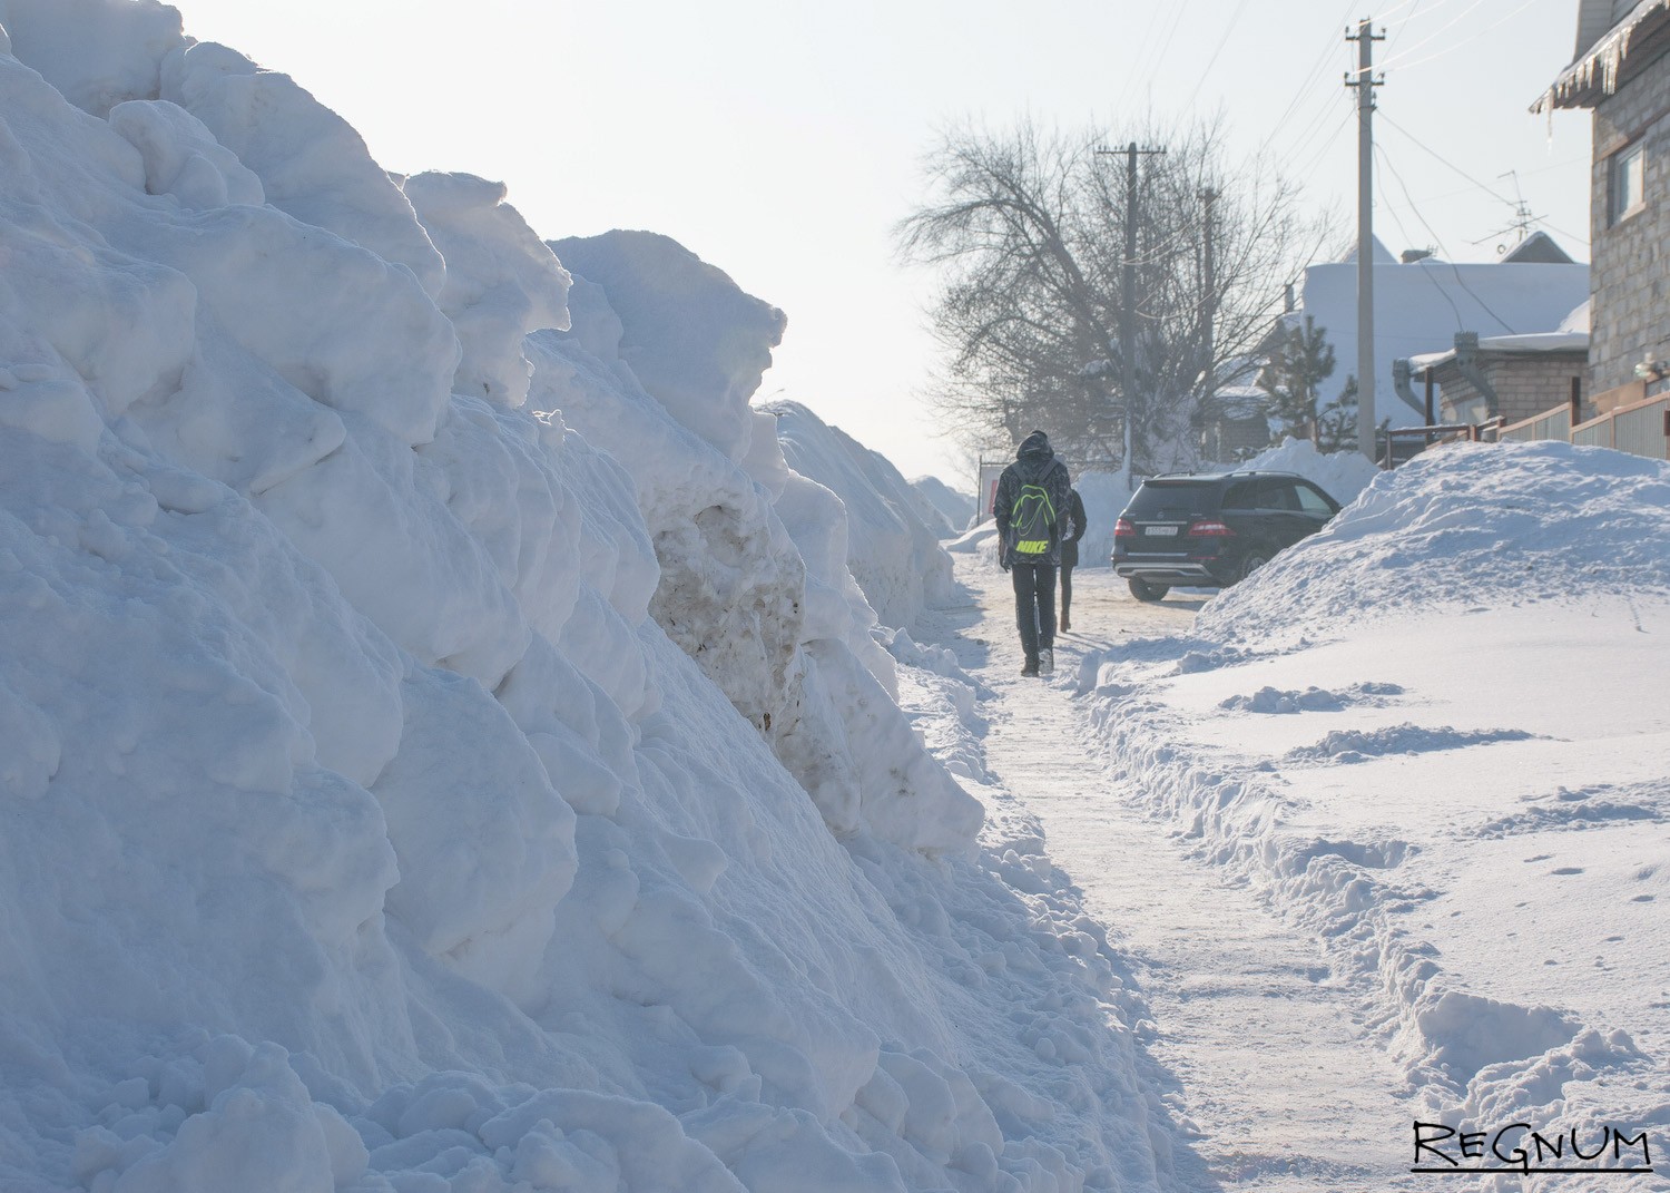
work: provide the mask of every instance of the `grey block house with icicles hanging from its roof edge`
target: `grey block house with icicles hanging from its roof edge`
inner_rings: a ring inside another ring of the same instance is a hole
[[[1612,411],[1670,393],[1670,0],[1580,0],[1576,30],[1531,110],[1595,114],[1588,379]]]

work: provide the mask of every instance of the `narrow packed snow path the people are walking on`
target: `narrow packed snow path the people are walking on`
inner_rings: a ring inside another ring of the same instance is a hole
[[[1167,1101],[1199,1133],[1189,1151],[1211,1166],[1179,1166],[1179,1178],[1192,1188],[1406,1186],[1413,1108],[1394,1066],[1361,1038],[1358,992],[1333,979],[1314,937],[1124,799],[1117,764],[1089,742],[1060,685],[1086,650],[1187,632],[1204,596],[1142,605],[1109,570],[1075,571],[1074,632],[1057,637],[1050,683],[1020,677],[1009,576],[985,553],[957,566],[982,608],[955,645],[992,692],[989,767],[1040,817],[1050,859],[1129,959],[1152,1011],[1147,1049],[1179,1083]]]

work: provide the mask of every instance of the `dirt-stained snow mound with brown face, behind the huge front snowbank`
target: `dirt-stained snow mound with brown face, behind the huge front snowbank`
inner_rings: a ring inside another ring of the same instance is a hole
[[[788,468],[773,414],[735,401],[758,384],[782,314],[666,237],[610,232],[554,247],[581,279],[578,314],[571,334],[529,338],[533,404],[561,411],[631,470],[661,570],[655,620],[770,737],[835,834],[967,849],[979,804],[895,707],[893,660],[848,570],[847,506]],[[738,321],[711,326],[705,348],[678,322],[686,307]],[[640,368],[676,384],[650,389]],[[890,465],[872,473],[897,476]],[[845,480],[855,508],[887,508],[862,478]],[[920,571],[932,575],[929,551],[949,571],[932,538]]]

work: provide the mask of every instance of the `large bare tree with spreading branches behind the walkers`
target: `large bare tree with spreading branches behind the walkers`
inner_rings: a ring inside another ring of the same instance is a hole
[[[1121,142],[1166,150],[1144,157],[1136,195],[1132,394],[1119,346],[1127,174],[1106,152]],[[1042,426],[1080,466],[1119,468],[1129,411],[1137,471],[1196,463],[1212,393],[1251,376],[1283,284],[1328,239],[1293,184],[1222,159],[1217,124],[1069,137],[1022,122],[940,139],[930,197],[897,236],[907,261],[942,271],[930,319],[945,359],[929,398],[949,434],[979,449]]]

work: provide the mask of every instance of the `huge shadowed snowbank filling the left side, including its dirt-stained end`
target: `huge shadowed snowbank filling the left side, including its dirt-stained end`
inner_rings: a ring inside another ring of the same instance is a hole
[[[1156,1186],[755,434],[782,316],[162,5],[0,22],[0,1185]]]

